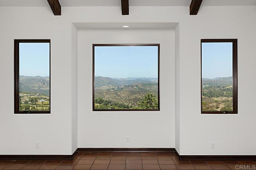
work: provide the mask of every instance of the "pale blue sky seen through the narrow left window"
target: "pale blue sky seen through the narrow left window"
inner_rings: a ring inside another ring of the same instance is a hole
[[[20,75],[50,76],[50,43],[19,43]]]

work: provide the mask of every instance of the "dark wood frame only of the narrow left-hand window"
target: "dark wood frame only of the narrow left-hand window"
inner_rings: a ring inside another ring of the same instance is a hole
[[[14,113],[15,114],[50,114],[49,111],[20,111],[19,110],[19,70],[20,70],[20,57],[19,57],[19,44],[20,43],[49,43],[50,39],[14,39]],[[51,49],[51,47],[49,47]],[[50,50],[49,49],[49,50]],[[51,50],[49,53],[49,57],[51,58]],[[49,59],[50,62],[50,59]],[[49,63],[50,66],[50,63]],[[50,73],[50,70],[49,70]],[[50,76],[50,75],[49,75]],[[51,80],[50,80],[51,82]],[[50,83],[49,82],[49,83]],[[50,84],[49,84],[50,86]],[[51,92],[50,92],[51,94]],[[51,95],[49,97],[51,98]],[[51,109],[51,107],[50,107]]]

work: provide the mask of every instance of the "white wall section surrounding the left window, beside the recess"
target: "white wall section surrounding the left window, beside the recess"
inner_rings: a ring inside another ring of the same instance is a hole
[[[0,154],[71,154],[71,23],[48,8],[0,8],[0,23]],[[51,39],[51,114],[14,114],[14,39]]]

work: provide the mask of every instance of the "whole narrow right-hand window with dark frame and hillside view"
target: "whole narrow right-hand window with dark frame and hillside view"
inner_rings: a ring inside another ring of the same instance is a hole
[[[201,113],[237,113],[237,39],[201,39]]]

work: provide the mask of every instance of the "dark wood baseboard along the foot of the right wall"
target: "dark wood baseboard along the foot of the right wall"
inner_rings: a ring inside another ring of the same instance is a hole
[[[179,160],[256,160],[256,155],[179,155]]]

